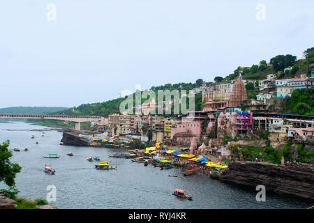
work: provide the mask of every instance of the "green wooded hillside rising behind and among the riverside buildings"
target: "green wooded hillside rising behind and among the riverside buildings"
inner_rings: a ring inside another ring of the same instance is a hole
[[[242,68],[239,66],[234,72],[227,77],[215,77],[216,82],[228,81],[231,79],[237,79],[241,74],[244,79],[266,79],[267,75],[277,73],[277,79],[294,78],[300,75],[306,74],[311,76],[311,70],[314,69],[314,47],[306,49],[304,51],[305,59],[297,60],[297,56],[278,55],[270,59],[270,63],[263,60],[258,65],[252,65],[250,68]],[[291,67],[290,70],[285,68]],[[285,70],[285,72],[284,72]],[[212,82],[211,82],[212,83]],[[151,91],[156,94],[156,102],[158,102],[158,90],[186,90],[188,91],[202,86],[203,80],[197,79],[195,83],[179,83],[179,84],[164,84],[162,86],[152,86]],[[208,83],[209,84],[209,83]],[[246,86],[248,98],[256,99],[258,91],[258,82],[255,82],[255,86]],[[306,98],[305,98],[305,95]],[[297,95],[304,95],[302,98],[298,98]],[[125,98],[117,98],[107,102],[98,102],[93,104],[80,105],[73,109],[66,109],[61,112],[55,112],[54,114],[77,114],[77,115],[97,115],[108,116],[109,114],[119,114],[119,105]],[[142,102],[146,101],[146,98],[142,98]],[[134,104],[135,105],[135,104]],[[204,104],[202,104],[202,93],[199,93],[195,97],[195,110],[201,110]],[[290,114],[313,114],[313,91],[301,91],[296,90],[292,95],[292,98],[286,98],[283,102],[282,108],[276,109],[273,112],[282,112]],[[173,116],[173,115],[172,115]]]

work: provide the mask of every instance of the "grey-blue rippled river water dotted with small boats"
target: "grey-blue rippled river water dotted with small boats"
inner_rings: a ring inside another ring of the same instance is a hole
[[[121,149],[61,146],[61,138],[62,133],[56,129],[23,122],[0,123],[0,142],[10,139],[11,150],[21,149],[13,151],[11,157],[12,162],[22,167],[15,179],[19,196],[45,199],[47,186],[54,185],[57,201],[52,204],[58,208],[308,208],[313,205],[269,192],[265,202],[257,202],[257,192],[253,189],[204,176],[184,177],[179,169],[160,170],[130,159],[108,157]],[[24,151],[25,146],[29,151]],[[68,152],[74,155],[66,155]],[[60,158],[43,158],[50,153],[57,153]],[[87,161],[89,156],[99,156],[101,161],[112,160],[110,164],[118,168],[96,170],[94,164],[98,162]],[[46,174],[45,164],[51,164],[56,174]],[[179,177],[169,177],[169,174]],[[0,188],[4,187],[0,183]],[[186,190],[194,197],[193,201],[173,196],[175,188]]]

